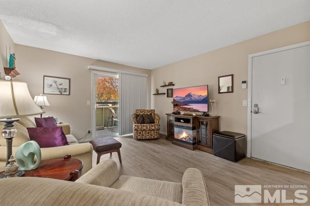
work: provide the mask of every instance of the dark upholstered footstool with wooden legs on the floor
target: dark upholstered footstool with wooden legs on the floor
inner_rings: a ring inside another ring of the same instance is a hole
[[[107,153],[112,154],[112,152],[117,152],[118,159],[122,163],[121,151],[120,151],[120,148],[122,147],[122,143],[120,143],[116,139],[112,137],[104,137],[104,138],[93,139],[89,143],[93,145],[93,150],[98,155],[97,164],[100,161],[101,155],[107,154]]]

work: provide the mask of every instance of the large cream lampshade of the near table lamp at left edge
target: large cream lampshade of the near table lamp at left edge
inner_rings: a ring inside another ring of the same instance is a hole
[[[43,114],[29,93],[26,82],[0,80],[0,118]]]

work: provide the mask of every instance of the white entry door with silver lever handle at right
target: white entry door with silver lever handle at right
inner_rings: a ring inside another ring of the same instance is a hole
[[[310,45],[273,52],[252,58],[251,157],[310,172]]]

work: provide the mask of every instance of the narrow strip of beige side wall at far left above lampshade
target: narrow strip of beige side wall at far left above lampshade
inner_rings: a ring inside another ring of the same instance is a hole
[[[3,67],[8,67],[7,59],[10,56],[10,48],[11,53],[15,52],[15,44],[12,41],[10,35],[7,30],[4,28],[2,22],[0,21],[0,73],[1,79],[4,79],[4,69]]]

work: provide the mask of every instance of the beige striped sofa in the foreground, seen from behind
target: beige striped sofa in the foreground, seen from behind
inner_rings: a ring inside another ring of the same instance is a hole
[[[0,179],[1,205],[45,206],[208,206],[200,170],[189,168],[182,184],[119,177],[114,161],[100,162],[76,182],[39,177]]]

